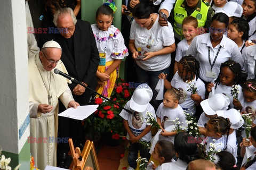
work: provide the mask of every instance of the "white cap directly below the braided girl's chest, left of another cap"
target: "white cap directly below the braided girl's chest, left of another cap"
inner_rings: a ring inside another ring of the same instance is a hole
[[[216,114],[216,111],[228,109],[230,100],[226,95],[215,94],[211,98],[201,101],[200,104],[204,110],[204,113],[212,116]]]

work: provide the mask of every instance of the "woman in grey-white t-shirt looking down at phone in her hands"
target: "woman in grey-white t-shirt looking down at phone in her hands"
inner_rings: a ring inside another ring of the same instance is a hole
[[[155,87],[159,73],[169,72],[170,53],[175,50],[173,29],[170,23],[167,27],[158,24],[159,15],[153,13],[149,4],[137,4],[133,8],[133,17],[129,48],[136,62],[138,81],[147,82],[153,89],[151,104],[157,109]]]

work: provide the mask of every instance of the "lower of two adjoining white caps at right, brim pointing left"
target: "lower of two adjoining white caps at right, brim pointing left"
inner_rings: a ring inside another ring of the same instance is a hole
[[[224,118],[229,118],[231,123],[230,128],[238,129],[244,124],[243,117],[241,114],[234,108],[230,108],[228,111],[217,111],[218,116],[222,116]]]

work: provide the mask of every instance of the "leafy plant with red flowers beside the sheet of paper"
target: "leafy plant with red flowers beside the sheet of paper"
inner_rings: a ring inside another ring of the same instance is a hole
[[[115,103],[124,107],[127,101],[131,99],[133,90],[133,87],[129,86],[129,83],[126,83],[123,79],[118,78],[116,80],[110,100],[115,101]],[[126,131],[123,125],[123,118],[119,115],[122,109],[108,100],[103,100],[104,99],[100,97],[91,100],[91,104],[97,104],[99,107],[94,114],[86,118],[84,121],[85,128],[93,127],[93,133],[99,135],[110,133],[111,136],[114,134],[125,136]],[[125,138],[118,139],[120,139],[120,141],[125,140]]]

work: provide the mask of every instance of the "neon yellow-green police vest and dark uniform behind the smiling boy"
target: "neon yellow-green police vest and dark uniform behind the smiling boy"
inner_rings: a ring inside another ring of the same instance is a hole
[[[193,8],[188,7],[186,0],[177,0],[171,12],[171,23],[173,24],[174,36],[182,40],[182,21],[187,16],[194,16],[198,21],[198,28],[203,27],[209,29],[212,17],[215,11],[209,6],[209,3],[199,0],[197,5]]]

